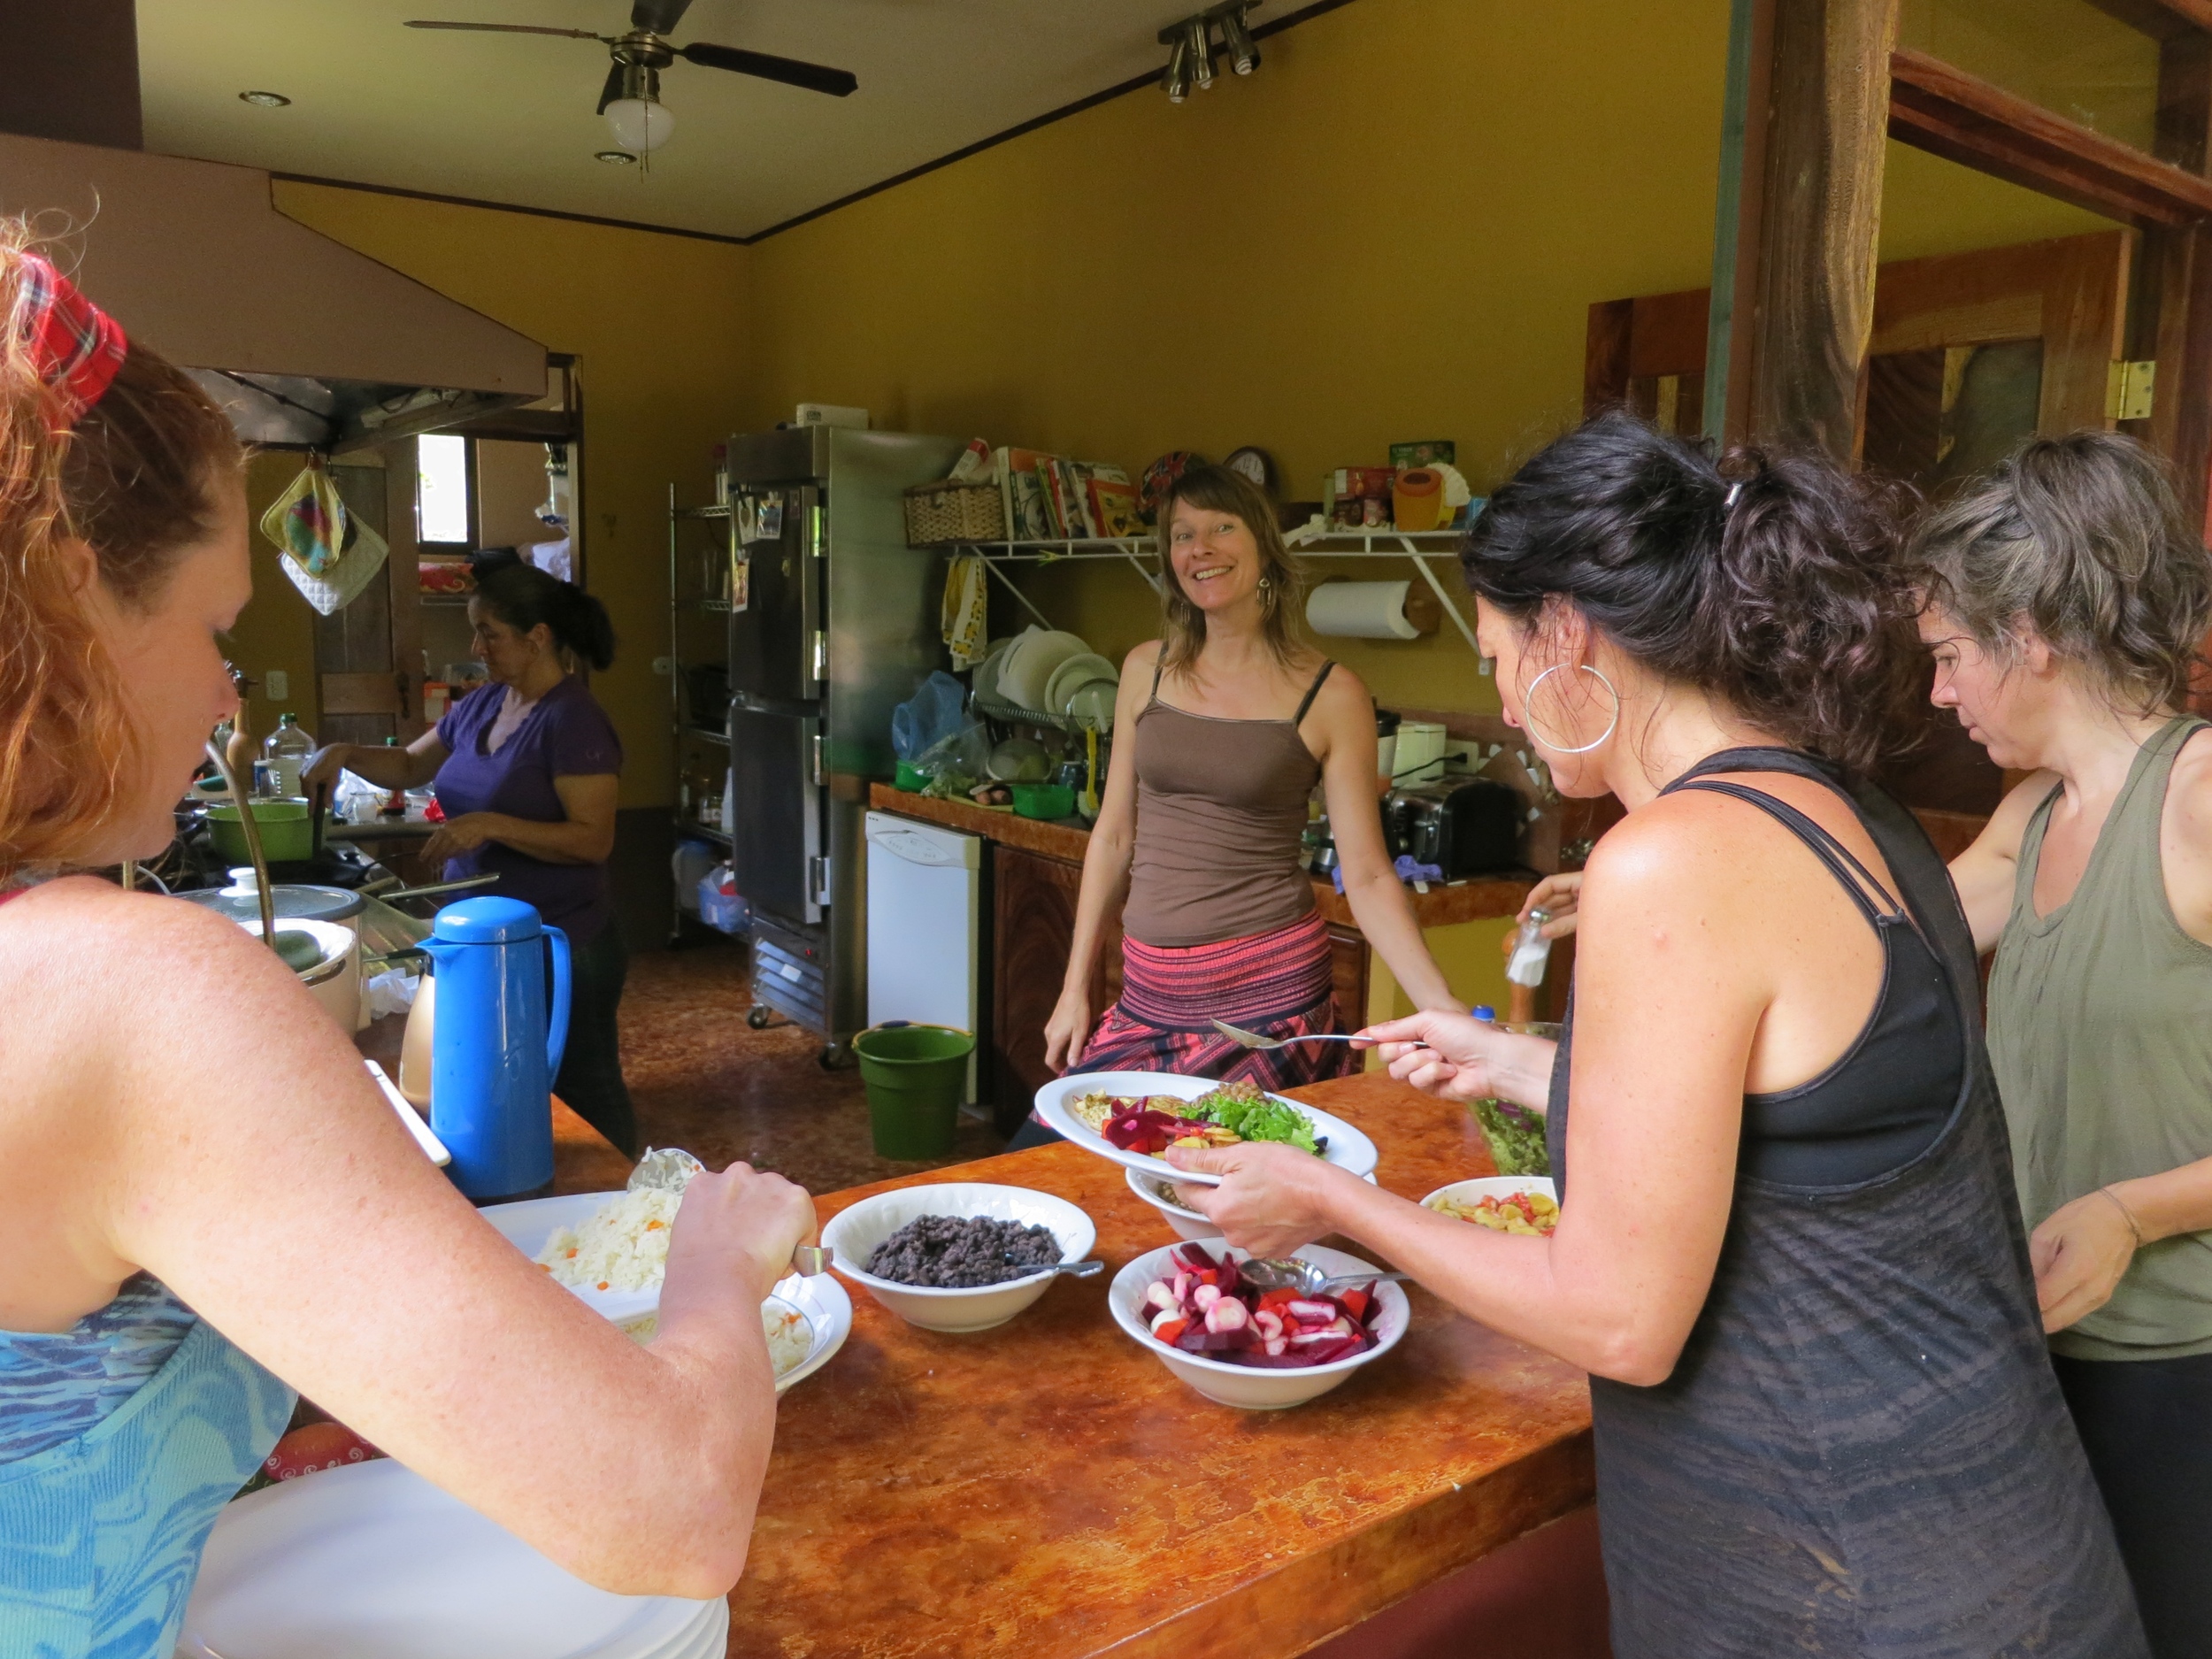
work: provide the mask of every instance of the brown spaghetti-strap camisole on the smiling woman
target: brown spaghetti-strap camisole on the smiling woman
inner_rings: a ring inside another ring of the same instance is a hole
[[[1314,909],[1298,863],[1321,761],[1298,737],[1336,668],[1321,664],[1287,721],[1190,714],[1152,699],[1137,714],[1137,845],[1121,931],[1139,945],[1214,945],[1272,933]]]

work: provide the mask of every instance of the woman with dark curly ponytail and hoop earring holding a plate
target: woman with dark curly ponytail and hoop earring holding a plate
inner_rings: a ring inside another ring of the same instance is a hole
[[[1586,1367],[1613,1650],[2139,1659],[2044,1358],[1975,960],[1863,781],[1916,701],[1887,515],[1827,460],[1721,465],[1626,416],[1467,535],[1506,719],[1590,858],[1564,1042],[1376,1026],[1451,1099],[1548,1108],[1551,1237],[1469,1228],[1283,1146],[1170,1152],[1230,1243],[1343,1232]],[[1411,1048],[1420,1040],[1425,1048]]]

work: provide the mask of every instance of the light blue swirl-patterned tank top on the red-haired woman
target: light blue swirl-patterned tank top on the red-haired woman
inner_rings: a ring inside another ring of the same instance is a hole
[[[146,1274],[69,1332],[0,1332],[0,1655],[168,1659],[294,1398]]]

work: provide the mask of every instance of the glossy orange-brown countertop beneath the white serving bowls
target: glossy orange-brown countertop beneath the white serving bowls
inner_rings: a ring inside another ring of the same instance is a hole
[[[1493,1172],[1462,1108],[1389,1077],[1294,1093],[1365,1128],[1394,1192]],[[560,1190],[619,1186],[571,1179],[588,1155],[562,1135]],[[1418,1285],[1405,1343],[1312,1405],[1186,1389],[1106,1312],[1113,1272],[1172,1234],[1075,1146],[816,1203],[931,1181],[1079,1203],[1108,1272],[973,1336],[849,1287],[852,1338],[779,1409],[730,1659],[1287,1657],[1593,1498],[1584,1376]]]

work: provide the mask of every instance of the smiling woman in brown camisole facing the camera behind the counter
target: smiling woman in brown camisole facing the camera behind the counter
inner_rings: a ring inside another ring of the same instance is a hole
[[[1199,467],[1159,504],[1159,522],[1164,639],[1137,646],[1121,670],[1117,763],[1084,858],[1046,1062],[1314,1082],[1356,1060],[1349,1044],[1254,1051],[1210,1022],[1285,1037],[1343,1029],[1327,929],[1298,865],[1316,783],[1360,929],[1422,1009],[1455,1006],[1383,847],[1374,703],[1292,633],[1298,573],[1248,478]],[[1117,907],[1124,989],[1093,1029],[1091,971]]]

